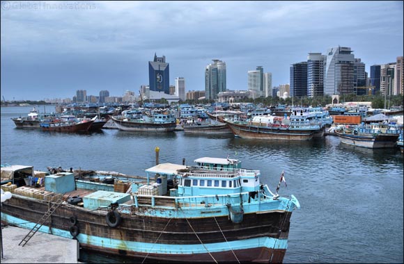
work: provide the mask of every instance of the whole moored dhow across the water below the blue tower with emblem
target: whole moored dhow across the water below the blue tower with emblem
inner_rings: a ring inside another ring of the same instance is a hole
[[[176,129],[176,117],[169,113],[154,113],[152,117],[140,113],[123,113],[120,116],[111,116],[115,126],[123,131],[153,131],[172,132]]]

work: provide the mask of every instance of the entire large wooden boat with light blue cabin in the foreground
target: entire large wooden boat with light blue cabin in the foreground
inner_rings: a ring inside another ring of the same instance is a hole
[[[13,198],[2,204],[1,221],[143,261],[281,263],[299,201],[271,192],[260,171],[242,169],[240,160],[194,161],[150,167],[143,182],[75,180],[60,172],[39,188],[2,186]]]

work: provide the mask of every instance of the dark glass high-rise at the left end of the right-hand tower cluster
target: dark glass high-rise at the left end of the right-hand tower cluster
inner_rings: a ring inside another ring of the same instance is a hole
[[[282,94],[281,94],[282,96]],[[290,96],[307,96],[307,62],[295,63],[290,66]]]

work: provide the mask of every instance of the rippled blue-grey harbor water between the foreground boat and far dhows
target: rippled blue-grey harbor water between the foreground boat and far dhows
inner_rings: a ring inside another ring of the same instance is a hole
[[[233,135],[52,133],[15,129],[11,117],[32,107],[1,108],[1,164],[35,170],[104,170],[145,176],[156,163],[194,165],[204,156],[236,158],[261,170],[274,191],[284,171],[302,208],[290,220],[284,263],[403,263],[403,155],[396,149],[343,145],[333,135],[304,142],[246,140]],[[44,108],[38,107],[43,112]],[[54,106],[46,106],[47,113]],[[133,263],[132,258],[80,251],[84,263]],[[139,260],[141,263],[142,260]]]

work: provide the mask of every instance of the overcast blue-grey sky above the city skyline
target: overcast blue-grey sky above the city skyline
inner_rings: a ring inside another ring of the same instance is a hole
[[[290,65],[338,46],[370,74],[403,56],[403,17],[403,1],[1,1],[1,99],[138,95],[155,53],[185,92],[205,90],[212,59],[227,89],[247,90],[256,66],[279,86]]]

